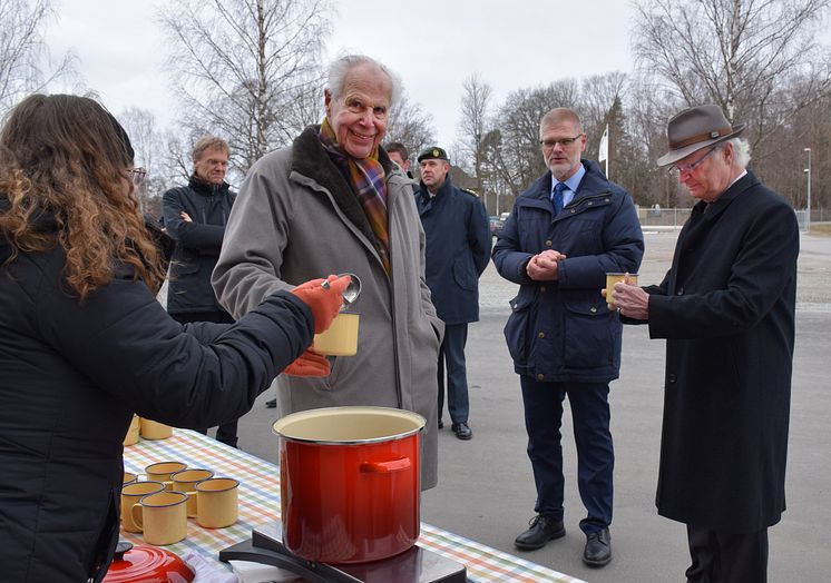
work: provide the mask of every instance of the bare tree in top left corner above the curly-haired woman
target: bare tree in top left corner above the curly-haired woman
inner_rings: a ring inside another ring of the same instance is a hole
[[[0,0],[0,116],[28,93],[75,75],[74,56],[51,62],[43,39],[50,0]]]

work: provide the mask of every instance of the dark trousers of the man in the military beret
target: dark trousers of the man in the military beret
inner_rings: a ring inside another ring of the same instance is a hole
[[[467,423],[470,414],[468,372],[465,366],[467,342],[467,324],[444,326],[444,339],[439,349],[439,418],[444,408],[444,365],[447,364],[447,408],[452,423]]]

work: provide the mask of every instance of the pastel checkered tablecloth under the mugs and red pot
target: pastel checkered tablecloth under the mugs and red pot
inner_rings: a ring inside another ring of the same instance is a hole
[[[188,518],[187,537],[167,547],[178,555],[198,551],[216,557],[221,550],[250,538],[255,527],[274,524],[280,520],[280,470],[274,464],[186,429],[174,429],[173,437],[167,439],[140,439],[136,445],[124,448],[126,472],[144,474],[144,468],[155,462],[184,462],[188,468],[211,470],[216,476],[234,477],[239,481],[237,523],[227,528],[203,528],[194,518]],[[140,534],[123,531],[121,537],[134,544],[144,544]],[[468,579],[476,583],[583,583],[579,579],[426,523],[421,523],[419,544],[463,563],[468,569]]]

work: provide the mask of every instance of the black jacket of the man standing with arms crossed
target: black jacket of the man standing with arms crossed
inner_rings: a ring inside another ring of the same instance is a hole
[[[187,186],[163,196],[167,235],[176,241],[167,288],[167,312],[224,312],[211,286],[211,273],[219,258],[225,225],[236,194],[227,182],[209,185],[195,176]],[[187,213],[190,221],[182,218]]]

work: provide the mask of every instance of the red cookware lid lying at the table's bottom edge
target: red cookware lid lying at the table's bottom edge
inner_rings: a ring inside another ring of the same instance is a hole
[[[194,573],[170,551],[119,542],[105,583],[190,583]]]

